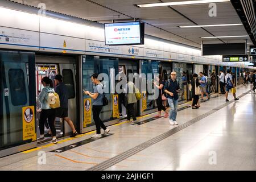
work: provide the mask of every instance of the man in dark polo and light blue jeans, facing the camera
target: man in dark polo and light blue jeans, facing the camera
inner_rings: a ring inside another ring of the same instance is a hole
[[[177,117],[177,104],[179,101],[178,93],[180,92],[179,83],[176,80],[177,73],[171,72],[171,79],[164,85],[164,92],[167,93],[167,99],[170,106],[170,124],[178,125],[176,122]]]

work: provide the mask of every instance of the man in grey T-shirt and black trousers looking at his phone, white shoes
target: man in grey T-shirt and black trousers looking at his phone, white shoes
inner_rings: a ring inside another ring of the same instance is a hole
[[[90,77],[90,80],[92,80],[94,87],[94,92],[90,93],[89,91],[84,90],[84,94],[92,97],[93,104],[92,104],[92,111],[93,111],[93,120],[96,125],[96,134],[92,136],[92,138],[101,138],[101,127],[104,130],[104,136],[109,133],[109,129],[106,128],[104,123],[101,121],[100,113],[103,107],[103,93],[104,93],[104,86],[101,84],[101,82],[98,80],[98,74],[93,73],[93,75]]]

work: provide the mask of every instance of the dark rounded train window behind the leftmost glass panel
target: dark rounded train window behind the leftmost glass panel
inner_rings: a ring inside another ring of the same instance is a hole
[[[9,84],[11,93],[11,103],[14,106],[27,104],[27,92],[25,77],[22,69],[9,70]]]

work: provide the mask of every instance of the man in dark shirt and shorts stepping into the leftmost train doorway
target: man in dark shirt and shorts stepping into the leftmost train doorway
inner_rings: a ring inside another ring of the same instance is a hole
[[[76,137],[77,131],[73,124],[73,121],[68,117],[68,89],[63,83],[63,77],[61,75],[55,76],[56,87],[55,92],[59,94],[60,97],[60,107],[56,108],[56,117],[63,118],[72,129],[72,134],[70,137]]]

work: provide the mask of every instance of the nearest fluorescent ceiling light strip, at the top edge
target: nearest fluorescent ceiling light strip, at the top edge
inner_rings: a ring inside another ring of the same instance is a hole
[[[177,6],[177,5],[196,5],[216,2],[230,2],[230,0],[201,0],[201,1],[180,1],[180,2],[160,2],[137,5],[139,7],[159,7],[159,6]]]

